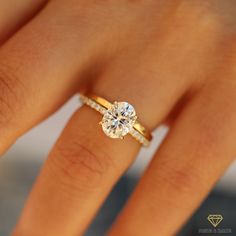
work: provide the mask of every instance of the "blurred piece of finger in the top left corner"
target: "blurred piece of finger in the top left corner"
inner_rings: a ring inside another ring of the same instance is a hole
[[[1,1],[0,44],[9,38],[24,23],[32,18],[45,4],[46,0]]]

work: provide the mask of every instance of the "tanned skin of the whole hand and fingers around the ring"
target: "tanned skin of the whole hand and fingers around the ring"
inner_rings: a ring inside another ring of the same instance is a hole
[[[170,132],[108,235],[174,235],[235,158],[235,1],[1,6],[0,152],[78,92],[128,101],[146,127]],[[140,149],[106,137],[100,120],[89,107],[71,117],[14,236],[86,230]]]

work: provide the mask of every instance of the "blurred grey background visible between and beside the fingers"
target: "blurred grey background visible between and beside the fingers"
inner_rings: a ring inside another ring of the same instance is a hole
[[[0,159],[0,236],[11,234],[49,150],[77,108],[78,98],[74,97],[60,111],[20,138]],[[167,132],[166,127],[155,131],[153,144],[141,150],[134,165],[110,194],[86,236],[105,235]],[[222,230],[218,231],[220,235],[236,235],[236,163],[228,169],[179,235],[213,235],[213,227],[207,221],[209,214],[223,215],[224,220],[219,227]],[[201,229],[206,229],[205,233]],[[156,235],[159,235],[158,229]]]

